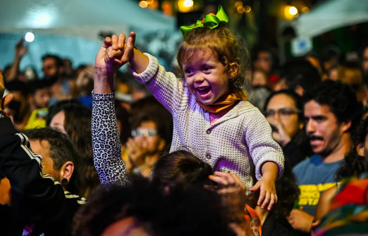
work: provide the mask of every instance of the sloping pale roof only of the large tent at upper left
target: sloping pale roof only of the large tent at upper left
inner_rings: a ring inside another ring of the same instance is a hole
[[[0,33],[40,34],[97,39],[99,32],[174,31],[175,19],[143,9],[132,0],[0,1]]]

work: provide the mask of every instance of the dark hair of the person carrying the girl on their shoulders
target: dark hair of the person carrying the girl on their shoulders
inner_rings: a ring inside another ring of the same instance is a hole
[[[192,185],[200,186],[210,185],[211,181],[208,176],[212,172],[209,164],[184,150],[161,156],[151,170],[153,179],[185,180]]]

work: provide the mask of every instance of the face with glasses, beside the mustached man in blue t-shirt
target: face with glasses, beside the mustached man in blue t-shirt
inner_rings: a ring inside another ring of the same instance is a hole
[[[296,104],[293,98],[286,94],[276,94],[267,104],[266,118],[270,124],[281,122],[284,125],[286,133],[293,138],[299,129],[302,128],[302,123],[299,121]]]

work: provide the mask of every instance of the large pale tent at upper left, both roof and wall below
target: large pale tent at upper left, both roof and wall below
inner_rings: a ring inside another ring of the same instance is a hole
[[[43,55],[71,59],[74,66],[94,63],[101,32],[130,31],[137,32],[138,44],[146,45],[146,34],[175,32],[176,19],[133,0],[1,0],[0,67],[13,62],[14,46],[26,32],[35,38],[26,43],[29,50],[20,69],[32,66],[42,76]]]

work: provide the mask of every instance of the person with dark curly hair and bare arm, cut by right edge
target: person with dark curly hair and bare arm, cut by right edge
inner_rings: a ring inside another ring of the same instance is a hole
[[[352,133],[352,140],[355,148],[345,157],[344,162],[336,171],[336,181],[341,181],[348,177],[359,177],[368,168],[368,119],[361,120],[359,125]],[[367,145],[367,146],[365,146]],[[330,202],[338,191],[338,185],[322,193],[318,201],[315,221],[321,220],[329,211]]]

